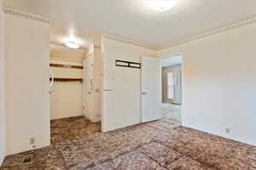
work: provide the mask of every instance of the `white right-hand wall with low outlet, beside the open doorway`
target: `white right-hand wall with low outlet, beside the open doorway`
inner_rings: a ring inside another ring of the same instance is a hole
[[[255,44],[254,24],[158,52],[183,54],[183,126],[256,145]]]

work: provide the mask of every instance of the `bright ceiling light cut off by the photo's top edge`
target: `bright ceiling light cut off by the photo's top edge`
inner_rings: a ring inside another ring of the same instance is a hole
[[[145,1],[145,3],[148,4],[148,6],[156,11],[160,11],[160,12],[163,12],[163,11],[166,11],[166,10],[169,10],[171,8],[173,8],[177,1],[176,0],[154,0],[154,1],[151,1],[151,0],[148,0],[148,1]]]

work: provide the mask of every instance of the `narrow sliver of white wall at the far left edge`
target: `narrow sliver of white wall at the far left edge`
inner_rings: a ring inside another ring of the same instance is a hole
[[[5,67],[3,56],[3,10],[0,1],[0,166],[5,156]]]

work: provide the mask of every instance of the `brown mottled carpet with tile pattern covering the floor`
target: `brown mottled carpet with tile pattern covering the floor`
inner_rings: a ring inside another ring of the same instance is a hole
[[[256,147],[163,119],[109,133],[84,117],[51,122],[52,145],[6,157],[1,170],[256,170]],[[22,165],[22,156],[34,161]]]

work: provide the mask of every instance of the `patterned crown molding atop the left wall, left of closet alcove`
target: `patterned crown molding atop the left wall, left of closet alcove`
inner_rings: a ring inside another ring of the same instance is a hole
[[[49,20],[44,17],[34,15],[34,14],[24,13],[24,12],[14,9],[14,8],[3,7],[3,13],[4,14],[12,14],[12,15],[20,17],[20,18],[36,20],[38,22],[43,22],[43,23],[49,24]]]

